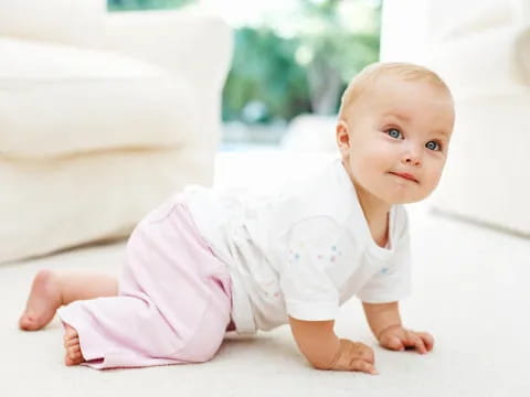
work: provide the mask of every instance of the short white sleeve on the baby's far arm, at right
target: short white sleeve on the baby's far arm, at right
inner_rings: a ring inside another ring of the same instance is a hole
[[[411,242],[406,214],[400,214],[401,233],[396,238],[394,255],[357,292],[367,303],[388,303],[411,294]]]

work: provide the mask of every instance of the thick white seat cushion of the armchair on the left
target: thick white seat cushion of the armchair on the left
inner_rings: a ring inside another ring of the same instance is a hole
[[[0,152],[8,157],[177,146],[195,129],[193,90],[156,65],[13,39],[0,39]]]

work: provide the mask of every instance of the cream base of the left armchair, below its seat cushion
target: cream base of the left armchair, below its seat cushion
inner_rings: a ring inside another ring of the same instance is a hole
[[[189,149],[0,155],[0,264],[127,236],[177,186],[208,183]],[[4,189],[4,186],[9,186]]]

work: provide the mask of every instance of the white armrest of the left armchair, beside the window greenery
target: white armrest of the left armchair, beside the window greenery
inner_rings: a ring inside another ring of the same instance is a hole
[[[232,58],[232,32],[219,18],[191,10],[110,12],[104,45],[174,71],[195,88],[220,92]]]

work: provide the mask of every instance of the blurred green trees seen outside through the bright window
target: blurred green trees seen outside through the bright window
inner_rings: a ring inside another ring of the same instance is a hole
[[[108,0],[109,10],[170,9],[195,0]],[[297,115],[332,115],[340,95],[378,61],[381,0],[298,0],[296,11],[235,29],[223,120],[288,122]],[[230,0],[226,0],[230,9]]]

